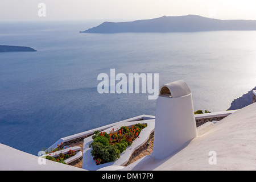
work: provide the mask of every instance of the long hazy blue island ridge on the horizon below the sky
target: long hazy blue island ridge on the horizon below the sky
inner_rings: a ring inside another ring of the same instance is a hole
[[[162,16],[134,22],[104,22],[80,33],[110,34],[118,32],[196,32],[222,30],[256,30],[256,20],[220,20],[198,15]]]

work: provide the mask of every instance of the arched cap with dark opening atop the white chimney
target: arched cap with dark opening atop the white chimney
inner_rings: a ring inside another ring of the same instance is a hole
[[[159,96],[182,97],[191,93],[185,81],[179,80],[164,84],[160,87]]]

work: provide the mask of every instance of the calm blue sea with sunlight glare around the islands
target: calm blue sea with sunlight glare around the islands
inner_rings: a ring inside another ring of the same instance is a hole
[[[99,94],[97,76],[184,80],[194,109],[222,111],[256,86],[256,31],[79,34],[101,22],[0,23],[0,143],[38,154],[56,140],[141,114],[148,94]]]

